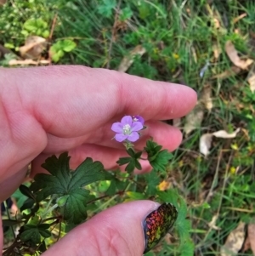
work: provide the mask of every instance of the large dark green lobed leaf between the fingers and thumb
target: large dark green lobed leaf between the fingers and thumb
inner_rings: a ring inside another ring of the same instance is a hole
[[[86,202],[89,191],[85,190],[84,186],[104,180],[109,175],[105,174],[101,162],[93,162],[91,158],[86,158],[75,171],[70,170],[69,161],[70,156],[67,152],[61,154],[59,158],[48,157],[42,168],[52,175],[37,174],[35,182],[31,184],[31,191],[36,193],[37,202],[52,195],[64,196],[64,202],[59,203],[62,206],[64,219],[79,224],[87,218]]]

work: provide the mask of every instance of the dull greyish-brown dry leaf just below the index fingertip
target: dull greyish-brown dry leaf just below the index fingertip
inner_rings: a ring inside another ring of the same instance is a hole
[[[203,117],[204,110],[201,103],[197,103],[193,111],[191,111],[190,114],[185,118],[184,133],[189,135],[193,130],[195,130],[195,128],[199,128],[201,126]]]

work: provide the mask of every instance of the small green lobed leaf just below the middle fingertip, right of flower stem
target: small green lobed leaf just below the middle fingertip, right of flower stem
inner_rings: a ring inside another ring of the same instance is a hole
[[[146,147],[144,147],[144,150],[148,154],[148,160],[151,167],[157,172],[165,172],[169,160],[173,157],[167,150],[161,151],[161,148],[161,145],[157,145],[156,142],[152,140],[147,140]]]

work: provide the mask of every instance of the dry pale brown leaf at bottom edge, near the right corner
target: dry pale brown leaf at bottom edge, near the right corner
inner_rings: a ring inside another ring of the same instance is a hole
[[[220,248],[221,256],[235,256],[240,251],[245,240],[245,223],[240,222],[235,230],[229,233],[229,236]]]

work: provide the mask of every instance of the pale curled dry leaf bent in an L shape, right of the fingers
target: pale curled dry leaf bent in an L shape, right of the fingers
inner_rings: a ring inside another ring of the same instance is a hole
[[[199,140],[199,151],[201,154],[204,156],[209,155],[209,151],[212,145],[212,137],[215,136],[217,138],[222,138],[222,139],[233,139],[236,137],[236,134],[240,132],[241,128],[237,128],[235,132],[229,134],[224,130],[219,130],[217,132],[214,132],[212,134],[202,134],[201,138]]]

